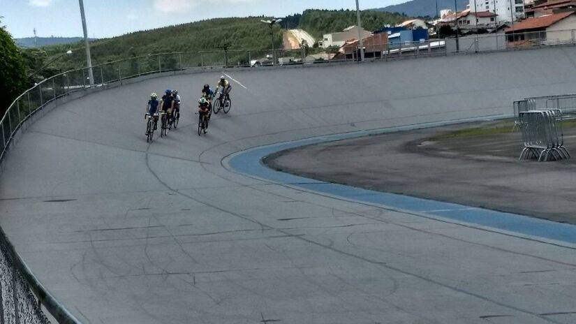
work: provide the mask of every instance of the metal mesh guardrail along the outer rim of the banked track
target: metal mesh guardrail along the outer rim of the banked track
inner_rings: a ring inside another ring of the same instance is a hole
[[[561,31],[562,32],[562,31]],[[564,36],[556,37],[554,45],[575,44],[574,31],[563,31]],[[522,34],[515,34],[517,37]],[[542,34],[538,34],[542,36]],[[426,40],[411,43],[372,44],[364,47],[367,59],[402,59],[405,57],[432,57],[449,54],[467,54],[469,52],[510,50],[518,47],[544,47],[542,40],[536,45],[517,45],[517,41],[506,41],[503,34],[489,36],[468,36]],[[530,38],[531,33],[524,34]],[[522,37],[519,37],[522,38]],[[472,41],[473,43],[469,43]],[[456,50],[458,47],[465,50]],[[466,45],[468,42],[468,45]],[[533,39],[530,44],[533,43]],[[266,65],[297,65],[357,61],[359,48],[351,47],[349,54],[342,52],[335,59],[325,54],[307,55],[305,49],[299,50],[227,50],[212,52],[175,52],[150,54],[131,57],[99,64],[92,67],[94,80],[88,80],[88,69],[81,68],[66,71],[47,78],[18,96],[0,119],[1,153],[0,165],[13,145],[19,131],[26,128],[38,112],[45,108],[71,101],[92,91],[122,85],[133,78],[154,73],[178,73],[191,69],[233,68]],[[369,50],[372,50],[370,57]],[[378,53],[378,54],[376,54]],[[269,57],[278,57],[275,62]],[[259,62],[260,64],[256,64]],[[24,261],[17,255],[8,237],[0,228],[0,323],[47,323],[43,307],[58,323],[80,323],[62,307],[42,284],[34,277]]]

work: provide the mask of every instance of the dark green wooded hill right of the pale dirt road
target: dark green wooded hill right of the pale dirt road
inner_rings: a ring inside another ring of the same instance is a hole
[[[385,24],[395,25],[409,17],[399,13],[364,10],[360,14],[362,27],[368,31],[380,29]],[[342,31],[357,24],[355,10],[305,10],[300,17],[300,28],[316,38],[323,34]]]

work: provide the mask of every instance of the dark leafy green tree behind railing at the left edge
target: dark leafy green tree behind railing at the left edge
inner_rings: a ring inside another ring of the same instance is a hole
[[[0,116],[4,115],[6,109],[26,87],[26,67],[22,53],[6,28],[0,26]]]

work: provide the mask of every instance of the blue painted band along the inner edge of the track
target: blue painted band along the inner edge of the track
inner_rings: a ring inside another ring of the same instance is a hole
[[[484,117],[486,119],[487,117]],[[468,119],[470,121],[470,119]],[[446,124],[446,123],[443,123]],[[453,124],[453,123],[452,123]],[[383,193],[381,191],[371,191],[342,184],[332,184],[314,179],[291,175],[286,172],[279,172],[268,168],[262,163],[262,159],[269,154],[311,145],[320,142],[330,142],[333,140],[344,140],[357,138],[365,135],[385,133],[392,131],[405,131],[415,128],[436,126],[437,124],[420,124],[418,126],[404,126],[398,128],[387,128],[385,130],[358,131],[336,135],[325,135],[292,142],[283,142],[265,147],[256,147],[244,152],[233,154],[228,161],[228,165],[236,172],[266,179],[278,184],[288,184],[300,187],[308,191],[337,196],[350,201],[365,202],[372,205],[383,205],[394,209],[424,213],[431,216],[439,216],[443,219],[451,219],[462,223],[471,223],[480,226],[487,226],[507,232],[519,233],[531,237],[542,237],[548,240],[556,240],[576,244],[576,226],[556,223],[544,219],[536,219],[530,216],[510,214],[506,212],[496,212],[494,210],[468,207],[450,202],[439,202],[394,193]]]

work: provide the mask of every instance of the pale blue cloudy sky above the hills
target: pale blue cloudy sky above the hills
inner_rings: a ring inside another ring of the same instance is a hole
[[[360,9],[407,0],[360,0]],[[88,36],[107,38],[214,17],[284,17],[304,9],[355,9],[355,0],[84,0]],[[82,36],[78,0],[0,0],[1,25],[14,38]]]

